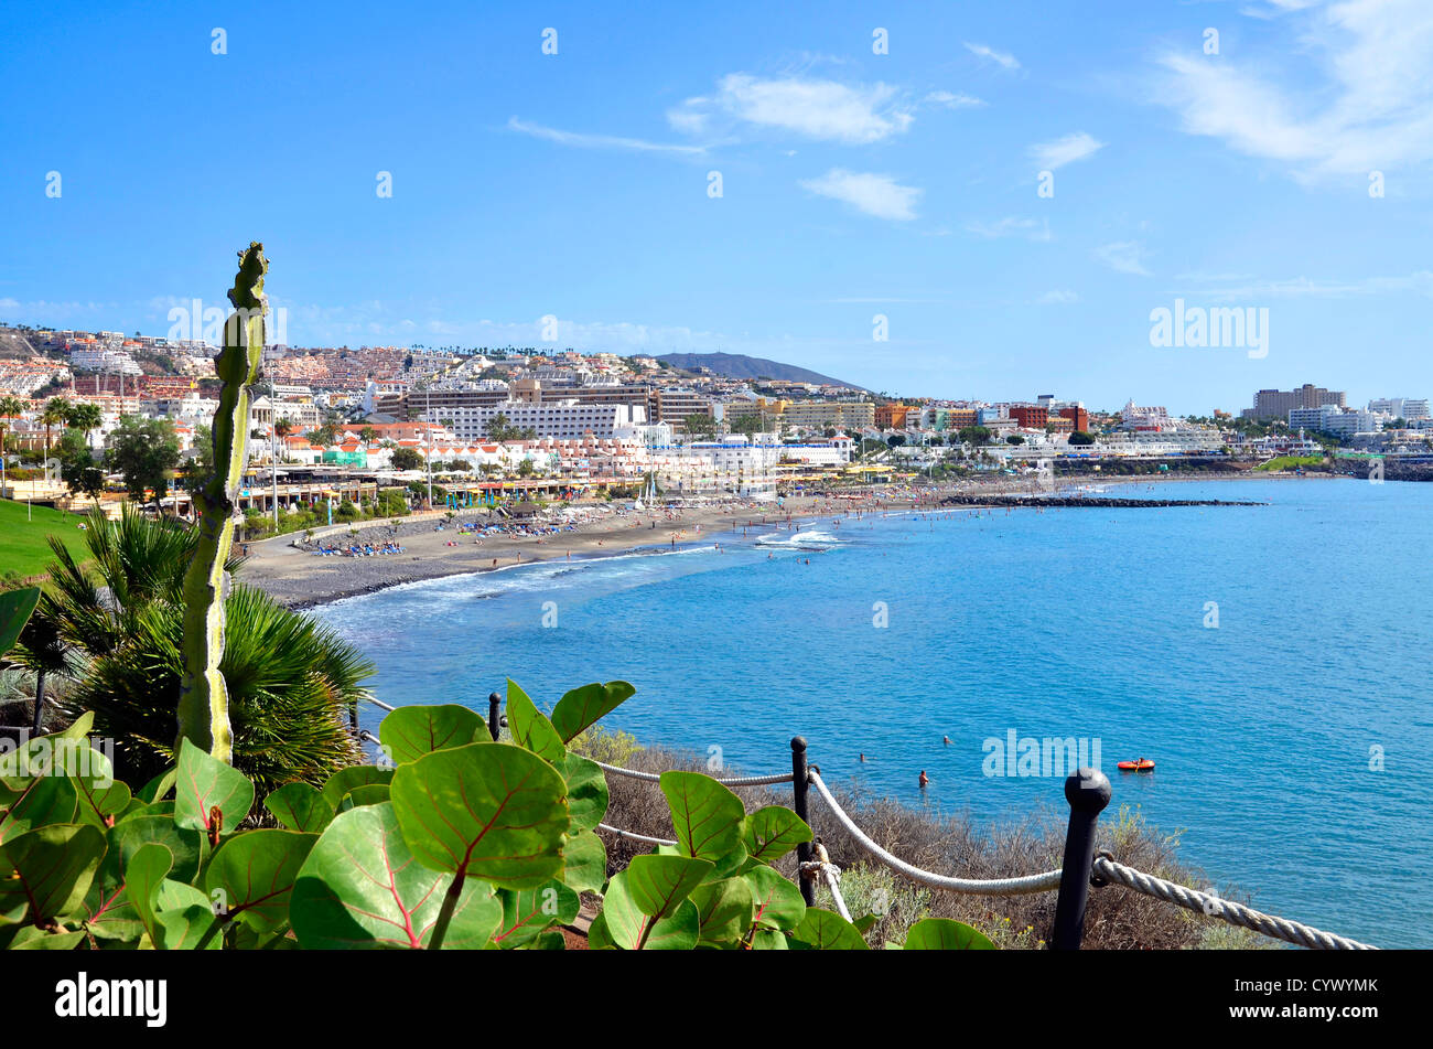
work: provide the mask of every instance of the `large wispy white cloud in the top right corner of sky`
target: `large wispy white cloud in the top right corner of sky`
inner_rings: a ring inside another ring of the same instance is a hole
[[[1184,130],[1301,178],[1433,161],[1433,4],[1280,7],[1298,20],[1297,53],[1311,66],[1287,82],[1260,54],[1245,64],[1175,53],[1159,60],[1155,97],[1179,113]]]

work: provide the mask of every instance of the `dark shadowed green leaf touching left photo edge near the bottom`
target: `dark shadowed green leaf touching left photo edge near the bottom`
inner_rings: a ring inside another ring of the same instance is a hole
[[[89,824],[56,824],[0,844],[0,913],[26,904],[30,921],[64,917],[85,903],[105,835]]]

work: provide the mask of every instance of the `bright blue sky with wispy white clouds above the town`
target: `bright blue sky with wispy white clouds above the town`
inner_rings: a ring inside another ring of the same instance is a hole
[[[1426,0],[100,7],[0,10],[4,321],[163,334],[261,239],[294,345],[1433,394]],[[1152,347],[1176,298],[1267,355]]]

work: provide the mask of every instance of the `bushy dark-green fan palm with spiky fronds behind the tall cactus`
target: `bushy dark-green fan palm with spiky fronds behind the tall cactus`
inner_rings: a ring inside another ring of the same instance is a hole
[[[57,563],[37,618],[89,658],[57,706],[95,712],[95,734],[115,741],[122,778],[143,782],[173,761],[183,672],[183,575],[198,533],[129,506],[118,522],[90,513],[85,533],[95,573],[52,540]],[[226,569],[238,573],[231,557]],[[264,795],[295,780],[321,785],[363,760],[347,728],[373,665],[327,626],[235,583],[225,602],[219,669],[229,688],[234,767]],[[255,810],[258,811],[258,810]]]

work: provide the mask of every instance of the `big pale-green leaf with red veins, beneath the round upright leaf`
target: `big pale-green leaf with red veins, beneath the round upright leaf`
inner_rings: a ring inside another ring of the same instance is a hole
[[[408,851],[391,804],[341,813],[318,838],[294,884],[289,916],[310,950],[427,947],[453,876]],[[443,947],[477,949],[503,920],[492,887],[469,878]]]

